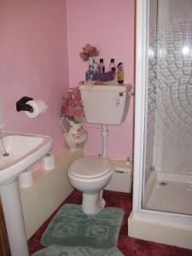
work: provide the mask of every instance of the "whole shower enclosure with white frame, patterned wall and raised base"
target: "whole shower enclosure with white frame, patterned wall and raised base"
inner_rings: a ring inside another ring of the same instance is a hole
[[[137,0],[129,236],[192,248],[192,0]]]

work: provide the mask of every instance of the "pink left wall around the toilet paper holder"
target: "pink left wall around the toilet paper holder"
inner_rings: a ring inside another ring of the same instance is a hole
[[[0,6],[0,93],[4,130],[49,135],[64,148],[61,95],[68,87],[67,19],[63,0],[2,0]],[[48,109],[29,119],[17,113],[21,96],[41,98]]]

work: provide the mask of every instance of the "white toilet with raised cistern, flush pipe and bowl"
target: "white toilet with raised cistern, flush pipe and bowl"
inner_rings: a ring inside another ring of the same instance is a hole
[[[131,86],[80,85],[87,123],[102,125],[102,157],[84,156],[69,167],[67,176],[73,188],[83,192],[82,209],[96,214],[105,206],[104,189],[113,176],[113,165],[106,158],[107,125],[120,125],[126,117]]]

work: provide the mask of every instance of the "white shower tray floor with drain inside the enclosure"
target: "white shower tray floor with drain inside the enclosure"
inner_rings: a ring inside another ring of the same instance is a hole
[[[169,172],[151,174],[143,208],[192,215],[192,177]]]

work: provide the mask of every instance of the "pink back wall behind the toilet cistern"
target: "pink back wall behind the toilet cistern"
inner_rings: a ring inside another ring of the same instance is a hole
[[[124,62],[125,82],[134,80],[134,0],[67,0],[69,80],[84,80],[88,63],[79,57],[86,43],[96,45],[108,68],[110,58]],[[98,60],[98,58],[97,58]],[[125,123],[110,127],[108,155],[132,156],[133,102]],[[86,154],[102,153],[100,131],[90,125]]]

